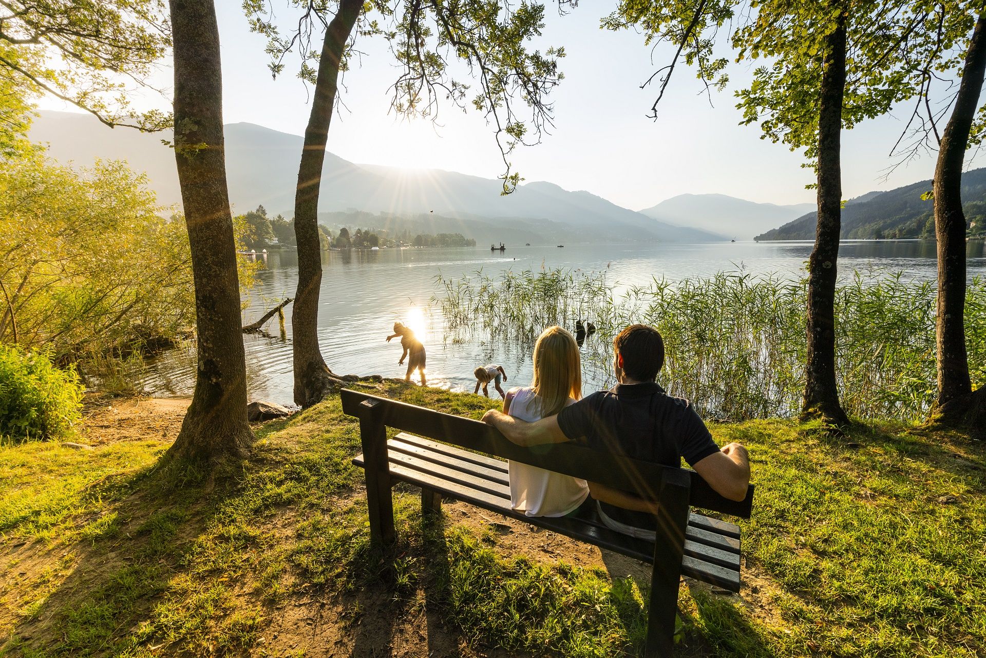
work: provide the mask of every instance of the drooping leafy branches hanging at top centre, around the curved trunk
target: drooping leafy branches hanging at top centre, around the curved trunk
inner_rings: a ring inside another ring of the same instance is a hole
[[[288,0],[302,10],[284,36],[270,0],[245,0],[244,10],[252,31],[268,38],[267,53],[274,76],[283,72],[284,60],[297,52],[298,76],[315,84],[319,49],[312,38],[338,11],[328,0]],[[566,3],[562,2],[561,5]],[[561,82],[558,60],[563,47],[542,53],[530,43],[541,36],[544,5],[506,0],[368,0],[347,43],[342,70],[349,67],[357,39],[383,37],[398,64],[390,108],[404,116],[436,119],[440,101],[458,110],[477,110],[493,126],[503,157],[504,193],[523,179],[512,172],[509,155],[520,144],[532,145],[552,125],[552,105],[547,97]],[[463,82],[471,78],[477,89]]]

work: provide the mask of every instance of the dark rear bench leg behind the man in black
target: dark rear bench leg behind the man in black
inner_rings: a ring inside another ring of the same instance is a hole
[[[658,499],[658,536],[654,545],[654,570],[651,573],[651,600],[648,605],[645,658],[667,658],[674,645],[674,621],[677,617],[678,583],[684,555],[684,532],[688,525],[688,489],[690,481],[681,472],[666,475]]]

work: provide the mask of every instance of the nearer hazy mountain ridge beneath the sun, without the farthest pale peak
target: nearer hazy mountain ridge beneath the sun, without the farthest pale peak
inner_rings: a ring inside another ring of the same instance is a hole
[[[304,139],[243,121],[227,124],[225,135],[227,178],[235,211],[246,212],[262,204],[271,214],[292,216]],[[174,155],[161,143],[169,134],[109,130],[86,114],[42,111],[31,136],[48,142],[49,154],[60,162],[88,165],[98,157],[126,160],[135,171],[147,173],[149,186],[163,205],[180,202]],[[519,185],[506,196],[500,194],[501,189],[496,179],[359,165],[326,151],[318,211],[434,212],[458,217],[463,226],[470,217],[502,218],[525,224],[528,239],[538,235],[545,243],[726,240],[714,232],[656,220],[592,192],[565,190],[556,183]]]

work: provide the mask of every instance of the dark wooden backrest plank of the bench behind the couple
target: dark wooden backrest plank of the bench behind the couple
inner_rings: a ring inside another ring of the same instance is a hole
[[[349,415],[364,418],[372,412],[387,427],[555,473],[634,491],[651,500],[658,498],[662,482],[680,482],[682,476],[690,477],[690,505],[743,518],[750,515],[752,485],[747,489],[746,497],[737,502],[714,491],[700,475],[690,469],[676,469],[602,453],[575,443],[526,448],[512,443],[499,430],[478,420],[350,389],[342,390],[340,395],[342,410]]]

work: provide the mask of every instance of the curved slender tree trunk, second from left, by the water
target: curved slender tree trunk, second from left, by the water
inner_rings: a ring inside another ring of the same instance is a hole
[[[298,290],[291,311],[294,339],[295,403],[311,406],[343,384],[318,348],[318,291],[321,286],[321,245],[318,242],[318,186],[325,160],[325,143],[339,77],[339,64],[363,8],[361,0],[342,0],[328,29],[318,60],[312,114],[305,129],[302,164],[295,194],[295,236],[298,240]]]

